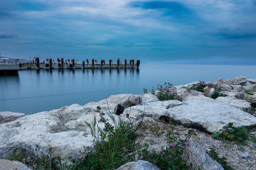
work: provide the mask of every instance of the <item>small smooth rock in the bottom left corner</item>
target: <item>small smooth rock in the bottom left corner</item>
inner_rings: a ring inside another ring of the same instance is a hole
[[[0,170],[31,170],[31,169],[19,161],[9,161],[6,159],[0,159]]]

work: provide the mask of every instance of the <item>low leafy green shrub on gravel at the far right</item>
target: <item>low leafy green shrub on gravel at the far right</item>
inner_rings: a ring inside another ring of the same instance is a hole
[[[233,141],[238,144],[246,144],[248,139],[247,131],[244,127],[234,127],[234,123],[228,123],[223,130],[215,132],[214,138],[221,137],[224,140]]]

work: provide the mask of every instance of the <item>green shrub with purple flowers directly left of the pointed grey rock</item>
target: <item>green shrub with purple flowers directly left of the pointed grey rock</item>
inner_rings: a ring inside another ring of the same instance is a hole
[[[181,138],[181,132],[175,132],[174,127],[172,126],[171,131],[167,133],[167,139],[169,146],[165,149],[162,148],[159,152],[153,150],[149,151],[148,144],[143,146],[143,149],[138,151],[140,159],[149,161],[161,170],[189,170],[191,169],[186,165],[186,162],[182,160],[183,150],[186,145],[186,142],[192,135],[196,135],[195,131],[190,129],[186,138]]]

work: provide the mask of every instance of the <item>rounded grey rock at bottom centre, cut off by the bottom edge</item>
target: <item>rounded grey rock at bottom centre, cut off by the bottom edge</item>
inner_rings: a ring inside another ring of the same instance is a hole
[[[128,162],[123,164],[116,170],[160,170],[156,165],[148,161],[138,160],[136,162]]]

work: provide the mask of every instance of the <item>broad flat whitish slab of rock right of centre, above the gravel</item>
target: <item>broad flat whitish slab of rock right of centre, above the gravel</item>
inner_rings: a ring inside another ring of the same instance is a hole
[[[125,109],[122,116],[130,113],[140,120],[144,106],[137,105]],[[188,96],[183,102],[177,100],[151,102],[145,106],[145,117],[175,122],[185,127],[197,128],[214,133],[229,122],[236,126],[256,125],[256,117],[230,105],[205,96]]]

